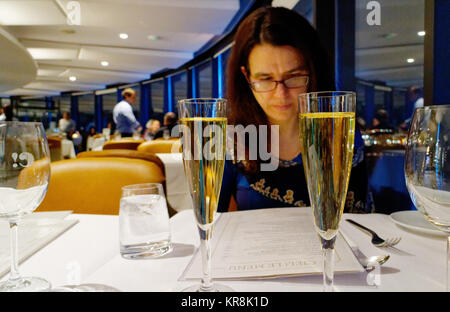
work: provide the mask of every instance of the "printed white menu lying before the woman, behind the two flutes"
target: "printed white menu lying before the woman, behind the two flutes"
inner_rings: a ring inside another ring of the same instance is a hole
[[[211,243],[214,279],[322,274],[320,240],[308,208],[222,213],[214,224]],[[335,272],[362,271],[339,233],[335,245]],[[201,277],[198,249],[180,280]]]

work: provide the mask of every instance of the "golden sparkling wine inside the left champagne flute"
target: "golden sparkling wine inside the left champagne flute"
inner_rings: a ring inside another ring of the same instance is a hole
[[[225,165],[227,119],[181,118],[183,161],[199,225],[209,225],[219,201]]]

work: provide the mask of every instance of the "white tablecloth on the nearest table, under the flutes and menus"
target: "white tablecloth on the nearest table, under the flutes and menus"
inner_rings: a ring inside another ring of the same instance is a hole
[[[403,239],[396,248],[376,248],[369,236],[343,221],[341,229],[366,255],[388,253],[391,259],[381,267],[378,287],[368,285],[366,272],[346,273],[335,276],[337,291],[445,291],[444,236],[406,231],[382,214],[344,214],[347,217],[380,235],[400,235]],[[68,218],[80,222],[26,260],[20,267],[23,275],[45,277],[54,286],[78,281],[107,284],[122,291],[179,291],[195,284],[195,281],[178,281],[194,247],[199,244],[191,210],[171,218],[174,251],[148,260],[126,260],[120,256],[117,216],[73,214]],[[221,283],[238,292],[322,290],[322,276],[317,275]]]

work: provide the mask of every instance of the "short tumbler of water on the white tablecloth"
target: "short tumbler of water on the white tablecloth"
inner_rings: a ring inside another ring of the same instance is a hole
[[[120,253],[126,259],[155,258],[172,251],[169,212],[161,184],[122,187],[119,236]]]

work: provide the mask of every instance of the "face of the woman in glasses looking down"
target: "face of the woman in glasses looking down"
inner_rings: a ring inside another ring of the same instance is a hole
[[[250,73],[241,70],[250,82],[261,80],[285,80],[295,76],[309,76],[309,70],[303,56],[291,46],[256,45],[248,58]],[[298,95],[305,93],[308,86],[286,88],[278,83],[268,92],[256,92],[253,95],[271,123],[279,124],[298,118]]]

